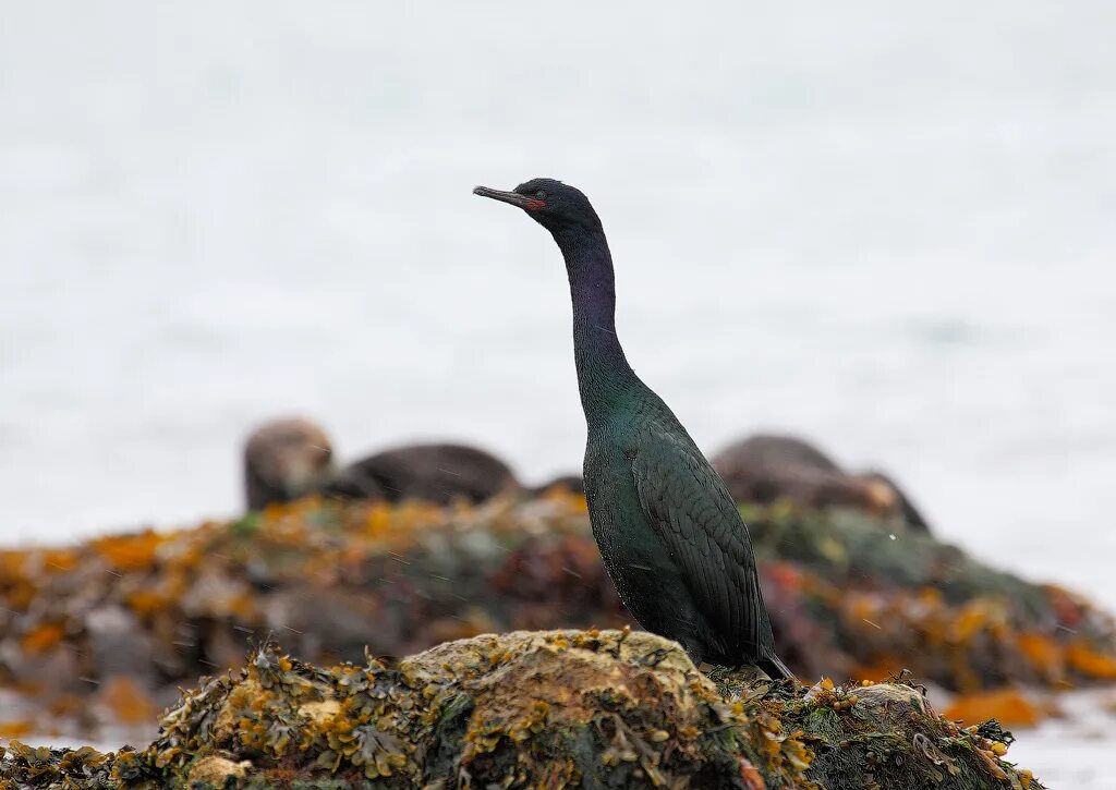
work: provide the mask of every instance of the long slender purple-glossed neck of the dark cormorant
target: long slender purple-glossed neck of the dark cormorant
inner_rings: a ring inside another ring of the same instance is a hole
[[[608,241],[600,229],[560,229],[574,302],[574,357],[581,407],[589,423],[623,406],[639,379],[616,336],[616,285]]]

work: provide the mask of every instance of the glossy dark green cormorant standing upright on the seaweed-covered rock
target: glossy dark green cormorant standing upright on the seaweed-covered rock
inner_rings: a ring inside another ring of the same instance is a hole
[[[624,356],[612,254],[588,199],[552,179],[473,193],[526,211],[550,231],[566,260],[588,426],[585,493],[620,599],[644,628],[680,643],[694,664],[756,664],[773,678],[792,677],[775,652],[735,502]]]

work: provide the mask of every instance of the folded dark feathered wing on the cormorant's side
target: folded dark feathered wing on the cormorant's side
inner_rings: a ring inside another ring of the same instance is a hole
[[[692,444],[653,427],[632,463],[639,503],[730,655],[756,658],[770,628],[748,528],[724,481]]]

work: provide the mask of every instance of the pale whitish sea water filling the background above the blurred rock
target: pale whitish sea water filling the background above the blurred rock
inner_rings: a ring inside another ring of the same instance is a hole
[[[256,423],[580,464],[549,238],[704,447],[789,430],[1116,606],[1116,6],[211,1],[0,26],[0,540],[240,507]]]

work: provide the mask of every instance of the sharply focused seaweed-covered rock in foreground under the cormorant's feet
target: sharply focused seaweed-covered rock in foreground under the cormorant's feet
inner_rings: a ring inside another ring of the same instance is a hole
[[[264,646],[146,749],[13,742],[0,787],[1040,788],[1009,742],[910,685],[714,682],[650,634],[518,632],[331,668]]]

